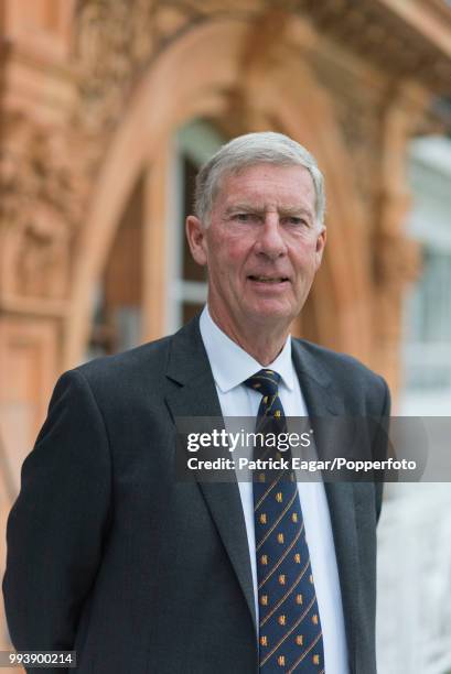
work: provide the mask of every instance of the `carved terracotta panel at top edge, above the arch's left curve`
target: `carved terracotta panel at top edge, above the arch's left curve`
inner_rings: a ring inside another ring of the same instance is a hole
[[[265,0],[82,0],[75,30],[79,123],[108,130],[152,61],[183,31],[212,19],[251,20]],[[281,0],[281,8],[293,2]]]

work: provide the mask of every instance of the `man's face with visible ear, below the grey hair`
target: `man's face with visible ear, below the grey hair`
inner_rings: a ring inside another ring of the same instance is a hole
[[[194,259],[208,270],[208,306],[225,331],[288,328],[321,263],[313,181],[303,166],[257,164],[223,180],[208,227],[190,216]]]

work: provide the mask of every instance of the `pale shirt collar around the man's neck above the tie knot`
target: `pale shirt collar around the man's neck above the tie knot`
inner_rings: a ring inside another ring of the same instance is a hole
[[[241,384],[264,367],[223,333],[213,320],[206,305],[201,314],[200,328],[215,383],[223,393]],[[290,335],[278,357],[265,368],[278,372],[281,383],[290,391],[293,390],[294,368],[291,360]]]

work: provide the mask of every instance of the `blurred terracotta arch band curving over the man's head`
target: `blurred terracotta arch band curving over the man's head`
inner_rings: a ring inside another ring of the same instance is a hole
[[[152,180],[152,171],[158,173],[158,161],[169,139],[183,122],[201,116],[221,119],[227,113],[229,93],[239,90],[243,83],[247,35],[247,24],[232,20],[195,28],[162,53],[143,77],[108,148],[94,191],[80,253],[75,260],[63,367],[72,367],[82,358],[89,329],[90,292],[101,273],[138,175],[147,168]],[[257,81],[257,88],[253,91],[251,87],[248,91],[250,95],[244,91],[246,107],[251,109],[257,105],[259,119],[267,119],[269,126],[277,120],[315,153],[326,173],[334,214],[330,228],[334,252],[327,257],[316,295],[330,296],[332,289],[339,317],[339,325],[334,325],[339,341],[365,358],[369,322],[365,319],[364,309],[366,274],[358,252],[362,250],[361,215],[357,199],[350,198],[354,194],[350,162],[331,106],[296,52],[290,67],[281,64],[271,73],[271,80],[266,78],[265,83]]]

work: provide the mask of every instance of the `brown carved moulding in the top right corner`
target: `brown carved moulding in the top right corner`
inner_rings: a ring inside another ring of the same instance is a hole
[[[450,91],[451,7],[444,1],[298,0],[296,11],[388,77]]]

